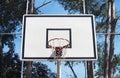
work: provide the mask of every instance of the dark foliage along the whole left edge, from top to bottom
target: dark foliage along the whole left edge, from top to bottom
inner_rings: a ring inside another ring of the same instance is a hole
[[[25,13],[26,0],[0,0],[0,77],[20,77],[20,61],[14,53],[15,35],[2,34],[15,32]],[[4,47],[8,50],[4,52]],[[19,76],[18,75],[19,72]]]

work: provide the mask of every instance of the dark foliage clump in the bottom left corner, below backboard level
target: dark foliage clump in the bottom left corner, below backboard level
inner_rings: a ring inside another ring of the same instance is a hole
[[[7,78],[19,78],[20,77],[20,70],[21,70],[21,61],[17,54],[14,54],[11,57],[10,53],[4,54],[4,62],[6,68],[6,77]]]

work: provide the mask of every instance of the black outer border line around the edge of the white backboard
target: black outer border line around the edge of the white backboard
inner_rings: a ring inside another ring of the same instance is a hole
[[[25,57],[24,56],[24,47],[25,47],[25,29],[26,29],[26,18],[39,18],[39,17],[45,17],[45,18],[48,18],[48,17],[59,17],[59,18],[62,18],[62,17],[90,17],[91,18],[91,22],[92,22],[92,36],[93,36],[93,47],[94,47],[94,56],[93,57],[64,57],[64,58],[58,58],[58,59],[62,59],[62,60],[66,60],[66,61],[75,61],[75,60],[96,60],[97,59],[97,46],[96,46],[96,34],[95,34],[95,29],[94,29],[94,15],[92,14],[81,14],[81,15],[34,15],[34,14],[27,14],[27,15],[24,15],[23,16],[23,36],[22,36],[22,56],[21,56],[21,60],[25,60],[25,61],[34,61],[34,60],[49,60],[49,59],[53,59],[53,57]],[[71,43],[72,44],[72,43]],[[71,46],[72,47],[72,46]]]

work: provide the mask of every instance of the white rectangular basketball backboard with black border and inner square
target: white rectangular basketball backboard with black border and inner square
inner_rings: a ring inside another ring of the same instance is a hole
[[[24,15],[22,60],[54,59],[48,41],[65,38],[70,41],[61,60],[96,60],[96,39],[93,15]]]

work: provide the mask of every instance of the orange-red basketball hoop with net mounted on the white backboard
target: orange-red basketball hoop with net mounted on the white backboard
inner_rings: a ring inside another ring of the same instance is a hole
[[[64,38],[54,38],[48,41],[48,47],[52,48],[54,58],[64,57],[66,54],[66,48],[69,46],[69,40]]]

